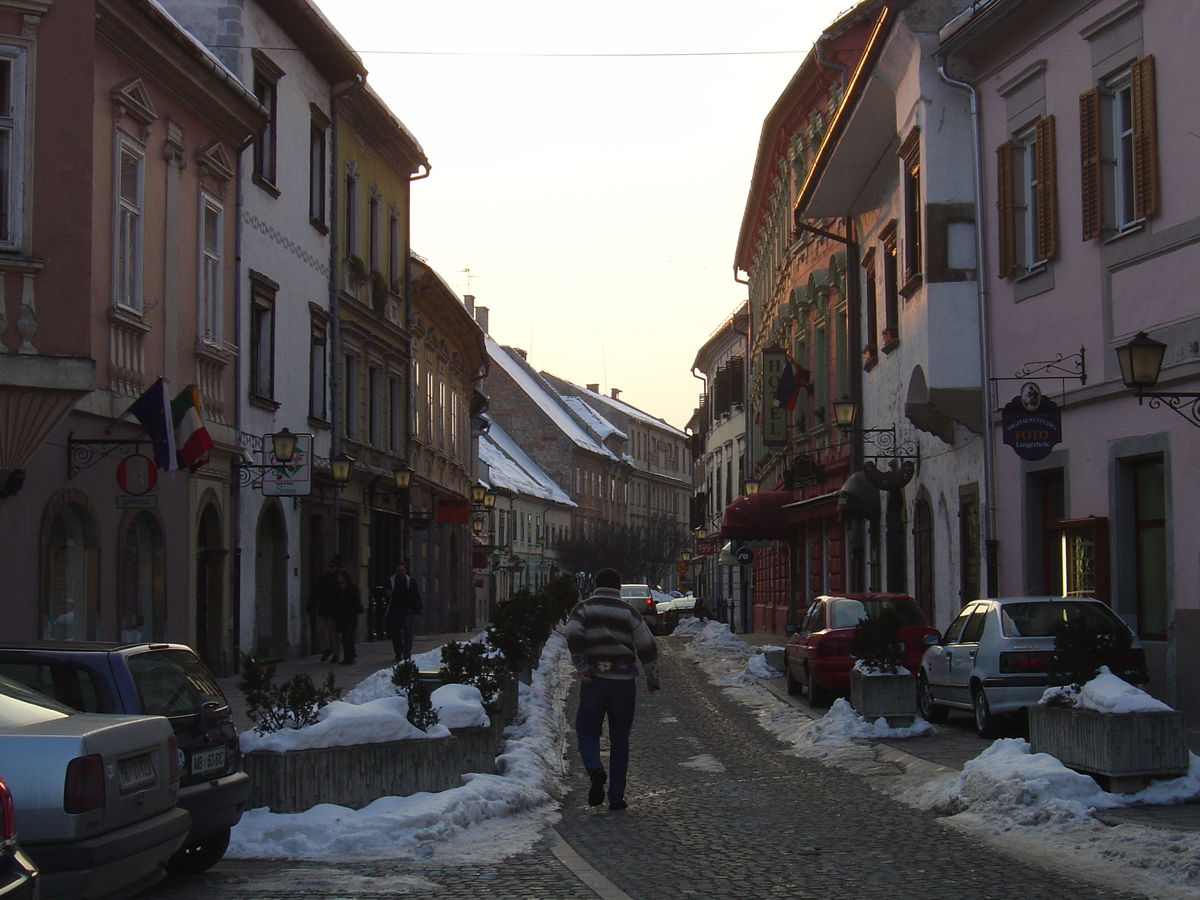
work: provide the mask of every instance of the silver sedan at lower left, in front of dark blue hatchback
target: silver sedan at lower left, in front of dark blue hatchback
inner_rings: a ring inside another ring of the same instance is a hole
[[[47,898],[127,896],[162,878],[187,838],[162,716],[77,713],[0,677],[0,768]]]

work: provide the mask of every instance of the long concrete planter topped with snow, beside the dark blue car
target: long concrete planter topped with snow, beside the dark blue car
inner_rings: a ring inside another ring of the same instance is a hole
[[[246,754],[247,809],[302,812],[319,803],[362,809],[380,797],[436,793],[462,785],[469,772],[496,773],[504,721],[455,728],[450,737]]]

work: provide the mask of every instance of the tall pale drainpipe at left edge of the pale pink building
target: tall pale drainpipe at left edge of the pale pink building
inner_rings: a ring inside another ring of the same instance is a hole
[[[996,538],[996,485],[995,485],[995,458],[992,452],[992,428],[991,428],[991,337],[988,329],[988,275],[986,256],[984,256],[984,228],[983,228],[983,155],[980,151],[979,133],[979,92],[967,82],[953,78],[946,71],[946,56],[940,55],[937,74],[952,88],[960,88],[971,95],[971,146],[974,156],[972,172],[974,175],[974,204],[976,204],[976,283],[978,284],[978,308],[979,308],[979,380],[982,389],[980,406],[983,407],[983,528],[984,528],[984,559],[986,560],[986,594],[984,596],[1000,595],[1000,541]]]

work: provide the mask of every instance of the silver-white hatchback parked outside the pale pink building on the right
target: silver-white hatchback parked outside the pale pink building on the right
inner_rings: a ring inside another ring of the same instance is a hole
[[[1112,672],[1145,684],[1146,654],[1138,636],[1106,604],[1085,596],[1009,596],[976,600],[962,607],[940,641],[925,650],[917,674],[920,714],[940,722],[950,709],[974,714],[976,731],[991,737],[997,719],[1033,706],[1046,688],[1062,684],[1050,674],[1058,623],[1090,620],[1102,631],[1130,640],[1127,658]]]

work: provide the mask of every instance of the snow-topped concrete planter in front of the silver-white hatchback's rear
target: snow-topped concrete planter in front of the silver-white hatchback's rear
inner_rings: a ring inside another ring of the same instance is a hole
[[[1188,773],[1187,722],[1176,710],[1116,714],[1038,704],[1030,707],[1030,746],[1114,793]]]

